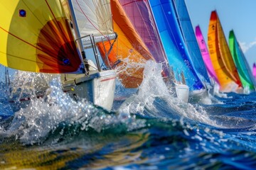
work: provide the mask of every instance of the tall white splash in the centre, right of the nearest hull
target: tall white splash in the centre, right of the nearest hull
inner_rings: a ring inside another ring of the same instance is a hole
[[[218,128],[230,128],[228,123],[220,125],[220,118],[211,117],[202,106],[179,101],[164,83],[161,77],[161,70],[161,64],[151,60],[147,61],[144,67],[144,79],[141,86],[139,86],[137,94],[132,95],[122,103],[118,112],[137,113],[142,116],[151,116],[162,120],[173,118],[187,119]],[[161,105],[161,108],[159,108],[159,103],[164,103]],[[158,108],[156,108],[157,106]],[[225,120],[221,121],[224,122]]]

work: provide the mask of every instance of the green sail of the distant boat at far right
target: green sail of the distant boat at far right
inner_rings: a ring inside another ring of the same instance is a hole
[[[252,76],[249,64],[247,63],[245,55],[242,52],[242,49],[238,43],[238,40],[235,37],[235,33],[233,30],[230,30],[229,47],[231,55],[233,57],[233,61],[235,62],[235,66],[238,69],[238,74],[242,82],[243,88],[254,90],[256,87],[255,79]]]

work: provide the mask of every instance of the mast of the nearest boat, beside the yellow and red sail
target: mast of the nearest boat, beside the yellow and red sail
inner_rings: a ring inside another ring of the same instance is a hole
[[[82,45],[82,39],[81,39],[81,35],[80,35],[80,30],[78,28],[78,22],[77,22],[77,18],[75,16],[75,11],[74,11],[74,6],[73,6],[72,0],[68,0],[68,8],[70,9],[70,15],[71,15],[72,23],[73,23],[73,28],[75,30],[76,41],[78,42],[78,46],[80,47],[80,52],[82,55],[82,63],[84,64],[84,67],[85,67],[85,74],[88,74],[88,71],[89,71],[88,62],[87,62],[87,59],[85,56],[84,47]]]

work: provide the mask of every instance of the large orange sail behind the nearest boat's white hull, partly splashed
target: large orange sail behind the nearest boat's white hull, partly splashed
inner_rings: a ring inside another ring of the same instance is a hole
[[[149,49],[139,36],[122,5],[118,0],[111,0],[111,10],[114,32],[117,33],[117,42],[112,47],[108,60],[110,67],[116,67],[117,76],[126,88],[137,88],[143,79],[144,64],[146,60],[154,60]],[[110,42],[97,44],[100,54],[105,58],[110,50]],[[106,59],[104,59],[106,61]],[[116,65],[118,61],[121,61]],[[105,62],[105,64],[108,64]]]

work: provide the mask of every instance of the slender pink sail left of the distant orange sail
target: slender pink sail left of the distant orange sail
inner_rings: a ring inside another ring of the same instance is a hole
[[[201,54],[203,57],[203,62],[206,64],[206,69],[207,69],[207,72],[208,72],[210,78],[213,79],[216,83],[220,84],[218,81],[217,75],[213,69],[213,64],[210,60],[208,48],[207,48],[206,42],[203,38],[201,29],[199,26],[196,26],[196,39],[198,41],[198,45],[200,47]]]

